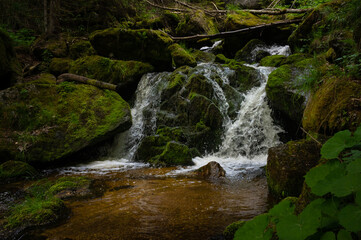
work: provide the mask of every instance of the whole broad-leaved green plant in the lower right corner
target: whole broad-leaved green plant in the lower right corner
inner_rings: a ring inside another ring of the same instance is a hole
[[[296,215],[285,199],[246,222],[235,239],[359,239],[361,236],[361,126],[336,133],[321,149],[324,162],[305,176],[317,196]]]

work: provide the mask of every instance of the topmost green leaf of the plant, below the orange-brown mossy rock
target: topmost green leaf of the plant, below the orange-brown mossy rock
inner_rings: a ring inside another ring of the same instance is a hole
[[[349,130],[336,133],[321,148],[321,156],[326,159],[337,158],[346,148],[352,147],[354,143]]]

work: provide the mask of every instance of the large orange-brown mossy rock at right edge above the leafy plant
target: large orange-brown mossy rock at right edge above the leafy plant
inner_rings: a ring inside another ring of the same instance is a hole
[[[361,85],[338,77],[324,78],[311,96],[303,114],[302,125],[308,132],[333,135],[361,123]]]

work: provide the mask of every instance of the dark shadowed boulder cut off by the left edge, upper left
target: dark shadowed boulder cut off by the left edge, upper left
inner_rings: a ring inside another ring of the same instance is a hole
[[[7,33],[0,29],[0,90],[13,86],[20,73],[12,41]]]

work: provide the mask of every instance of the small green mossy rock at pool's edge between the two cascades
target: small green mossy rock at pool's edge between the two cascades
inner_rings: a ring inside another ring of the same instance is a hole
[[[168,142],[164,151],[149,160],[155,166],[190,166],[194,165],[190,149],[181,143]]]

